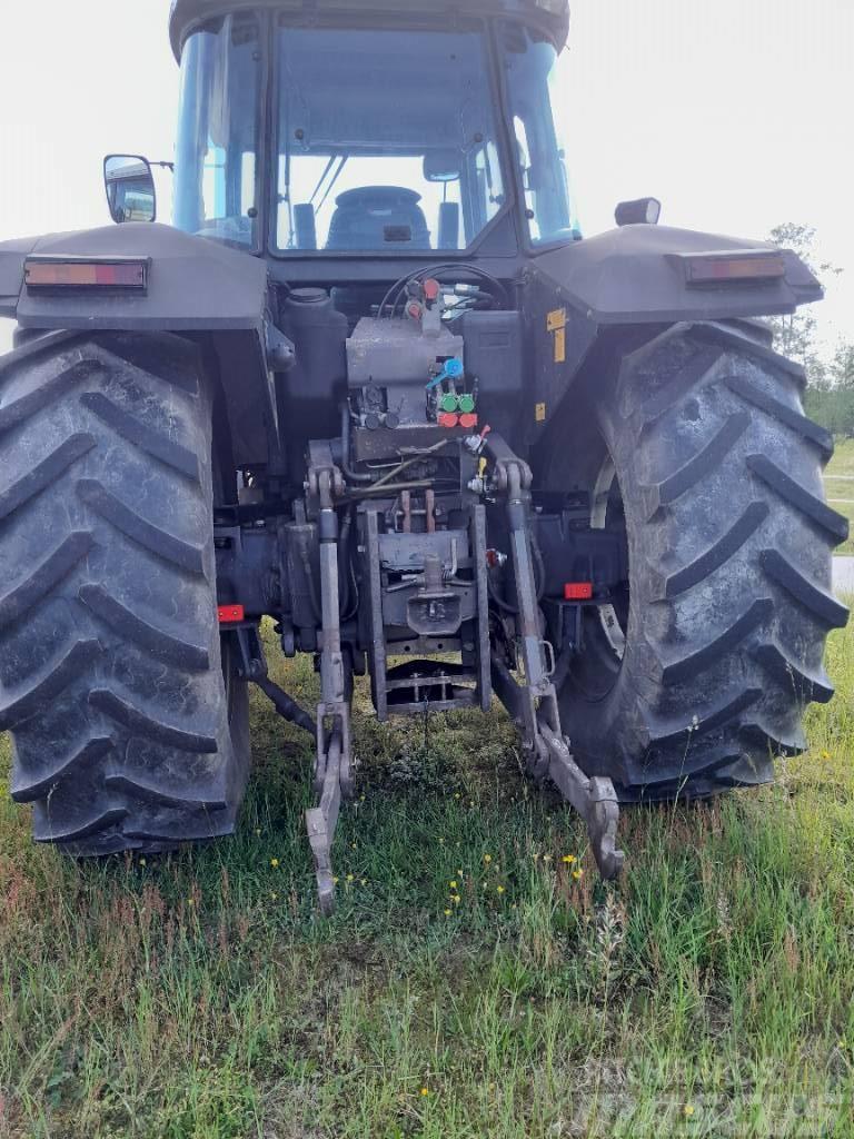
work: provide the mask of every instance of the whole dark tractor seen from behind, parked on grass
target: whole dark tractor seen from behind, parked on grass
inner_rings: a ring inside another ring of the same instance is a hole
[[[617,875],[621,804],[773,779],[846,608],[793,252],[582,235],[567,0],[175,0],[172,224],[0,245],[0,727],[36,842],[233,831],[248,686],[314,740],[321,908],[377,718],[494,699]],[[268,673],[263,618],[317,708]]]

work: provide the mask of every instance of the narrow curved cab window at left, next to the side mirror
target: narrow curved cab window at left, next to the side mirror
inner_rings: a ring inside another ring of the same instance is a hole
[[[261,58],[257,17],[245,13],[205,24],[181,59],[174,222],[240,248],[258,245]]]

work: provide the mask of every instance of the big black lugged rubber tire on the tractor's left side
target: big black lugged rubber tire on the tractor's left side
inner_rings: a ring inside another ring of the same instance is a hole
[[[197,349],[59,333],[0,358],[0,727],[35,839],[229,834],[248,697],[221,658]]]

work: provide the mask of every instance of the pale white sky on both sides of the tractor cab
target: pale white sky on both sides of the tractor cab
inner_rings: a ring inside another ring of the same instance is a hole
[[[0,240],[107,224],[106,153],[171,158],[169,7],[3,5]],[[826,281],[822,339],[854,342],[854,0],[572,8],[560,120],[584,231],[641,195],[660,198],[670,226],[746,238],[812,226],[821,260],[844,270]],[[167,181],[162,191],[167,213]],[[0,321],[0,351],[8,337]]]

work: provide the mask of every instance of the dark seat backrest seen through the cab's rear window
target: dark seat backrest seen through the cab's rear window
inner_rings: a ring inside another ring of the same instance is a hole
[[[335,199],[327,249],[429,249],[421,195],[402,186],[360,186]]]

